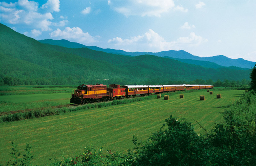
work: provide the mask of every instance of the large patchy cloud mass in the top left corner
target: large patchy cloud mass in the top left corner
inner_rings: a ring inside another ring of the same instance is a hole
[[[40,31],[50,31],[52,25],[65,26],[67,20],[63,20],[59,23],[54,23],[52,12],[60,11],[59,0],[48,0],[40,7],[40,13],[38,12],[39,4],[35,1],[18,0],[15,3],[1,2],[1,21],[8,22],[10,24],[25,24],[29,25],[31,29],[40,29]],[[33,32],[36,32],[33,30]],[[33,34],[32,32],[26,34]],[[34,33],[35,34],[35,33]],[[40,35],[40,33],[36,33]]]

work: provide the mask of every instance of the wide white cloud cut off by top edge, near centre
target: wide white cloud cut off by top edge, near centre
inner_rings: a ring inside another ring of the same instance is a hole
[[[181,6],[176,6],[173,0],[108,0],[108,5],[115,11],[129,15],[140,15],[140,16],[157,16],[169,12],[170,10],[188,11]]]

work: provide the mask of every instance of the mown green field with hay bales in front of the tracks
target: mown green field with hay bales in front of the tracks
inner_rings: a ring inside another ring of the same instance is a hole
[[[217,99],[216,94],[222,98]],[[222,113],[234,102],[243,90],[216,91],[210,95],[206,90],[170,96],[170,100],[152,99],[105,108],[86,109],[65,114],[40,117],[22,121],[0,123],[0,163],[10,159],[11,141],[24,149],[26,143],[32,146],[33,163],[47,164],[49,158],[78,156],[84,147],[103,146],[125,152],[132,148],[132,136],[145,140],[152,132],[160,129],[164,119],[185,117],[195,123],[195,119],[207,131],[214,123],[223,121]],[[199,95],[205,95],[205,101],[199,101]],[[204,134],[198,124],[196,132]]]

